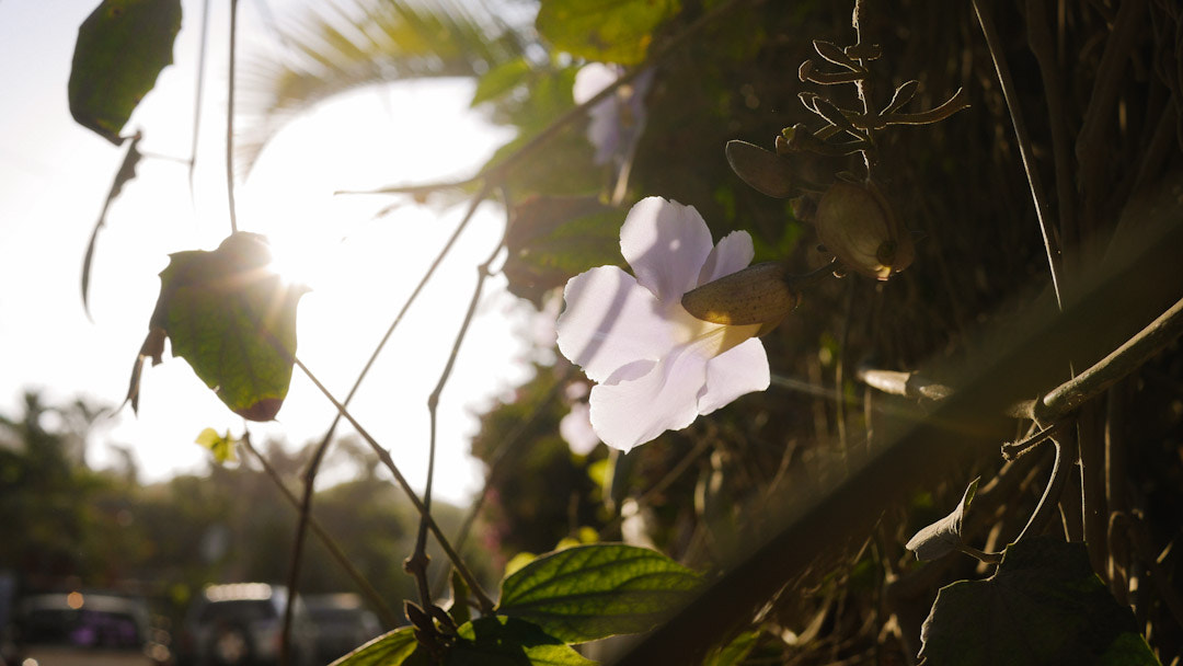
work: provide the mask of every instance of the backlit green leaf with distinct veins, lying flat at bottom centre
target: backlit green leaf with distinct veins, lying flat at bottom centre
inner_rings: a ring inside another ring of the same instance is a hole
[[[702,578],[645,548],[599,543],[543,555],[502,581],[498,613],[567,642],[645,632],[689,600]]]

